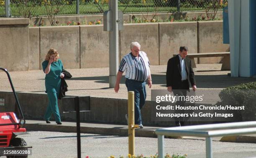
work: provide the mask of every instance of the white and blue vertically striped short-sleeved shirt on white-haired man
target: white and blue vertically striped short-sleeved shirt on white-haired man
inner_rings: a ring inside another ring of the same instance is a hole
[[[139,52],[138,59],[132,53],[126,54],[119,66],[119,71],[124,72],[125,78],[136,81],[145,81],[150,74],[150,63],[147,54]]]

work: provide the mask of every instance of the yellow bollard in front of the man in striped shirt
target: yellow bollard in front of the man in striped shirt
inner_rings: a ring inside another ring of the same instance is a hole
[[[135,130],[138,128],[138,125],[134,125],[134,92],[128,92],[128,146],[129,154],[134,155],[134,136]]]

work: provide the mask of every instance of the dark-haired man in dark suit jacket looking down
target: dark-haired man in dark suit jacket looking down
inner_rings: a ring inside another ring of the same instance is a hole
[[[188,48],[181,46],[179,48],[179,54],[169,59],[167,64],[166,87],[175,96],[186,97],[187,91],[189,91],[189,82],[192,85],[193,91],[197,89],[191,60],[186,57],[187,52]],[[177,100],[176,105],[184,106],[185,100]],[[184,113],[184,110],[176,112]],[[175,123],[177,126],[184,125],[184,118],[175,118]]]

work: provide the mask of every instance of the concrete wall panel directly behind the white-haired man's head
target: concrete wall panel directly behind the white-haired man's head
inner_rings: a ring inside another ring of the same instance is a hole
[[[151,65],[159,65],[158,23],[125,24],[120,31],[120,59],[131,52],[131,42],[141,44]]]

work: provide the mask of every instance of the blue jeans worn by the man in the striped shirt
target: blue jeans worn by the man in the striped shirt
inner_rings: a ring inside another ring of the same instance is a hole
[[[142,124],[141,109],[146,100],[146,82],[135,81],[133,79],[126,79],[125,86],[128,91],[134,91],[134,123],[136,125]]]

